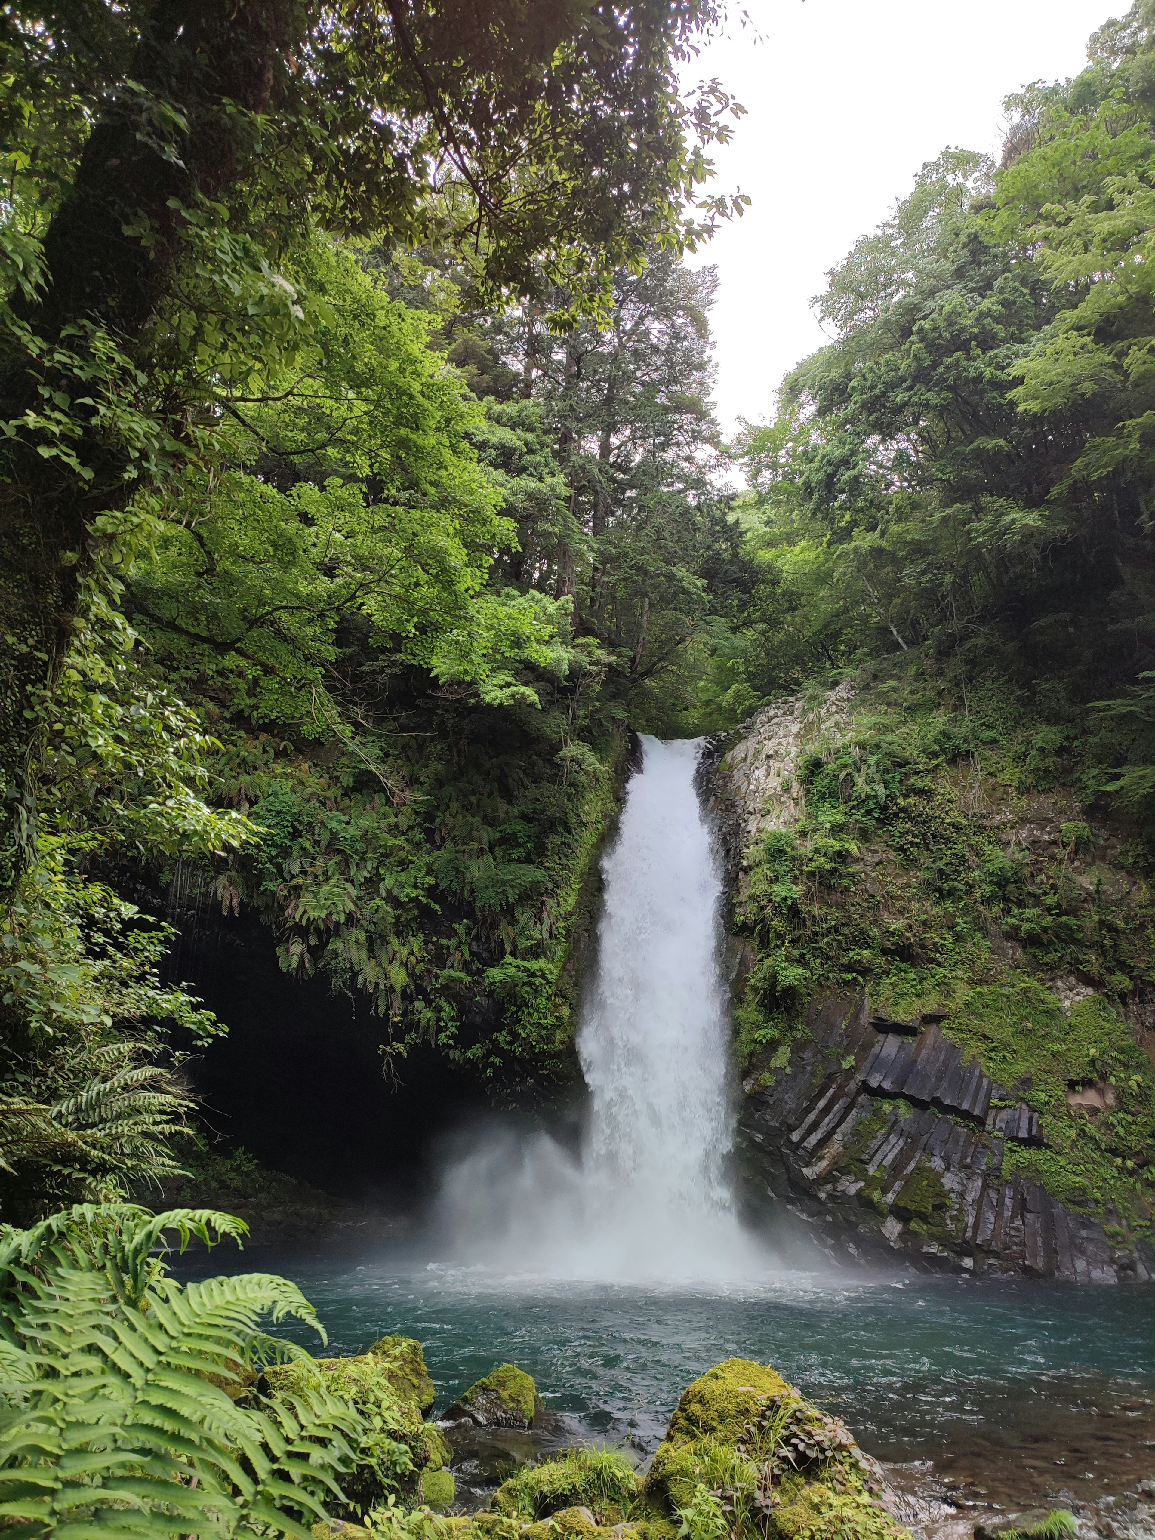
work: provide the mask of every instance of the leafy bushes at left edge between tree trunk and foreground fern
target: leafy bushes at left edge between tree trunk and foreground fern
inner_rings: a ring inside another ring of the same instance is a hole
[[[216,744],[129,653],[111,611],[80,628],[46,732],[40,861],[0,909],[0,1204],[28,1220],[59,1203],[123,1197],[176,1164],[169,1141],[189,1100],[162,1053],[166,1035],[205,1046],[214,1016],[162,984],[172,927],[92,867],[126,850],[213,856],[249,836],[208,805]],[[165,1061],[166,1060],[166,1061]]]

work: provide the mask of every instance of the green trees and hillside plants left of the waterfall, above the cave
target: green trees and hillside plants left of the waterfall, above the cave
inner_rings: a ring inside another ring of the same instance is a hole
[[[15,1221],[179,1166],[243,1030],[166,983],[180,895],[387,1066],[568,1078],[625,725],[738,544],[679,265],[741,211],[741,108],[675,74],[711,5],[179,11],[0,23]]]

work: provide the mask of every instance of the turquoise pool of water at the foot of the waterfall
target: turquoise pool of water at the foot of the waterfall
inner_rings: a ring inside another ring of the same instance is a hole
[[[1150,1289],[784,1274],[664,1292],[388,1255],[237,1258],[222,1249],[213,1264],[294,1278],[328,1329],[330,1354],[360,1352],[385,1332],[416,1337],[439,1408],[513,1361],[571,1437],[628,1438],[641,1452],[661,1438],[684,1386],[735,1355],[773,1363],[884,1458],[936,1458],[959,1440],[998,1443],[1032,1421],[1053,1440],[1064,1415],[1110,1403],[1133,1408],[1126,1426],[1155,1466],[1146,1454],[1155,1449]]]

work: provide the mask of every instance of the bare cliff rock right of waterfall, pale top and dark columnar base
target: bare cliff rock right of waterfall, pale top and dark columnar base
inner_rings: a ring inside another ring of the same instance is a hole
[[[739,998],[765,953],[742,915],[758,847],[804,819],[801,756],[847,733],[852,707],[849,687],[818,705],[773,705],[704,761],[738,912],[730,961]],[[872,859],[865,850],[864,870]],[[999,944],[993,936],[990,955],[1006,976],[1015,964]],[[1053,981],[1052,990],[1056,1018],[1069,1015],[1070,998]],[[869,979],[861,990],[812,993],[779,1038],[748,1052],[738,1141],[748,1204],[765,1218],[788,1209],[807,1220],[842,1264],[889,1258],[973,1275],[1155,1280],[1146,1226],[1120,1223],[1109,1204],[1063,1203],[1024,1169],[1046,1143],[1032,1076],[1003,1084],[987,1073],[952,1036],[949,1009],[893,1019],[872,993]],[[1090,993],[1078,981],[1066,990]],[[1066,1101],[1093,1116],[1112,1098],[1110,1086],[1076,1084]]]

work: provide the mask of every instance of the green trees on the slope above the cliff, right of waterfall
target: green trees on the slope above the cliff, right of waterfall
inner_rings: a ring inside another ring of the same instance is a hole
[[[972,682],[1046,681],[1069,719],[1110,693],[1137,732],[1100,732],[1089,773],[1147,795],[1143,707],[1116,687],[1152,664],[1150,17],[1109,31],[1080,77],[1009,102],[1001,168],[922,166],[830,273],[835,340],[738,436],[761,578],[716,656],[719,725],[926,645]]]

